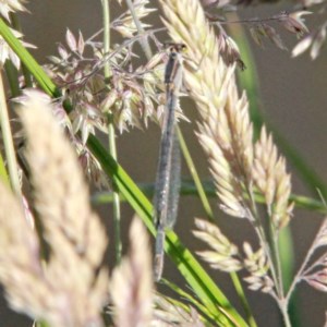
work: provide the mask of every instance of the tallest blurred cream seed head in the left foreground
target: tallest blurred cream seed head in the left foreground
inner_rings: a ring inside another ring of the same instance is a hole
[[[34,94],[19,111],[28,141],[26,156],[35,206],[51,247],[41,280],[49,292],[51,289],[51,295],[41,317],[55,325],[83,326],[93,322],[101,326],[99,311],[108,277],[107,270],[99,267],[107,238],[89,207],[89,194],[75,154],[51,109]]]

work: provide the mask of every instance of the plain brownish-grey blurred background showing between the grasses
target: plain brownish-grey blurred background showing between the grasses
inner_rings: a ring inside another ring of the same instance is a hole
[[[156,7],[157,1],[152,5]],[[112,17],[122,9],[117,1],[110,1]],[[87,0],[33,0],[26,4],[31,14],[20,14],[25,40],[38,47],[33,50],[34,56],[40,63],[47,63],[47,56],[57,53],[57,44],[64,43],[65,29],[69,27],[74,34],[82,31],[85,38],[101,28],[101,5],[100,1]],[[125,8],[125,7],[124,7]],[[274,3],[256,7],[247,7],[239,11],[242,17],[268,17],[279,13],[281,10],[290,10],[291,3]],[[158,13],[154,13],[148,20],[153,25],[161,25]],[[308,27],[317,26],[315,16],[306,16]],[[276,26],[276,24],[274,25]],[[289,49],[295,45],[294,35],[290,35],[282,28],[280,32],[282,39]],[[162,37],[161,40],[166,40]],[[112,41],[119,43],[117,34],[112,35]],[[251,40],[250,40],[251,41]],[[259,49],[251,41],[255,57],[255,65],[245,62],[247,71],[256,69],[259,77],[259,102],[261,110],[269,120],[278,126],[282,135],[293,144],[310,162],[323,180],[327,181],[327,56],[322,52],[316,61],[312,61],[307,55],[296,59],[291,59],[290,52],[281,51],[269,41],[265,49]],[[141,60],[143,53],[140,52]],[[245,72],[246,73],[246,72]],[[187,141],[189,147],[199,174],[204,179],[209,178],[206,159],[199,147],[194,131],[196,130],[196,108],[191,100],[182,101],[184,113],[191,123],[181,123],[181,129]],[[131,130],[129,133],[118,135],[119,161],[128,173],[136,182],[153,182],[156,173],[157,156],[159,148],[160,133],[155,124],[150,124],[147,130]],[[292,167],[289,167],[292,171]],[[183,168],[183,175],[189,177],[186,168]],[[292,177],[293,192],[296,194],[311,195],[304,184]],[[315,194],[315,196],[317,196]],[[221,229],[230,235],[234,242],[253,239],[253,232],[249,223],[231,217],[222,216],[218,210],[217,201],[211,199],[213,208],[219,220]],[[100,209],[104,221],[110,220],[111,206],[102,206]],[[123,234],[126,234],[128,226],[133,216],[131,208],[123,204]],[[197,242],[190,231],[194,228],[194,217],[204,217],[199,201],[196,197],[182,197],[179,209],[179,220],[175,226],[177,233],[181,240],[191,249],[203,249],[203,244]],[[291,227],[294,235],[294,249],[296,267],[301,263],[303,255],[311,245],[313,237],[320,222],[320,215],[295,210]],[[111,239],[111,251],[108,263],[113,261],[113,234],[111,222],[109,221],[108,232]],[[205,265],[204,265],[205,266]],[[209,269],[209,268],[207,268]],[[209,274],[219,287],[230,299],[234,299],[233,304],[240,307],[240,303],[234,298],[231,281],[227,275],[209,270]],[[183,279],[178,270],[166,261],[165,276],[180,286],[184,286]],[[253,305],[254,316],[258,326],[281,326],[276,304],[272,300],[262,293],[246,291],[250,303]],[[305,283],[299,288],[299,306],[301,326],[323,326],[325,322],[326,294],[319,293]],[[20,316],[8,310],[3,298],[0,301],[0,326],[31,326],[32,323],[24,316]],[[300,325],[299,325],[300,326]]]

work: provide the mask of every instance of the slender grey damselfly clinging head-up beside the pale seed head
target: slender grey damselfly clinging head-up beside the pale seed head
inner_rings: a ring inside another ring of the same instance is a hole
[[[161,278],[164,268],[165,229],[172,228],[177,218],[180,192],[180,148],[175,133],[175,107],[183,77],[182,50],[185,45],[170,44],[165,69],[166,112],[161,133],[159,162],[156,177],[154,221],[157,227],[155,280]]]

